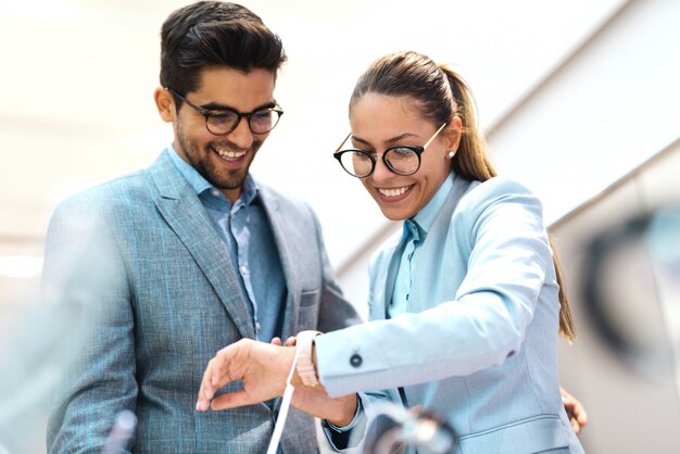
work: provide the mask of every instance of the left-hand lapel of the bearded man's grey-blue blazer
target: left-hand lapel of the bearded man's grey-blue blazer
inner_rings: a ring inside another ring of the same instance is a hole
[[[165,153],[151,175],[160,192],[155,204],[161,215],[211,282],[240,335],[254,338],[234,265],[201,201]]]

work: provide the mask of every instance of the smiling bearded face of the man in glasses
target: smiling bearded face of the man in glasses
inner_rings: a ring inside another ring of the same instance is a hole
[[[266,70],[242,73],[228,67],[204,68],[200,81],[196,91],[182,94],[205,110],[252,112],[274,102],[275,77]],[[242,117],[231,133],[215,136],[206,129],[205,117],[187,103],[179,108],[173,124],[179,156],[234,203],[268,133],[253,134],[248,118]]]

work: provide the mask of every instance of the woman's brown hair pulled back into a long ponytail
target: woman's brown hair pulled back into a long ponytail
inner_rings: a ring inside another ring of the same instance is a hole
[[[436,125],[458,116],[463,124],[461,143],[452,160],[453,171],[468,180],[486,181],[496,176],[477,125],[475,100],[465,80],[451,68],[438,65],[418,52],[396,52],[376,60],[358,78],[350,100],[350,113],[368,92],[408,97],[425,118]],[[559,263],[552,241],[553,262],[559,285],[559,332],[575,338],[574,320],[564,291]]]

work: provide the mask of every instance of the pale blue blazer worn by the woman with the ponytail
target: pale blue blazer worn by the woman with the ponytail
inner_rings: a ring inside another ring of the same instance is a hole
[[[374,396],[398,403],[404,387],[405,405],[451,425],[458,453],[581,453],[559,395],[558,286],[540,202],[500,177],[452,176],[438,196],[407,313],[385,319],[400,232],[372,263],[374,321],[316,339],[322,382],[333,395],[388,390]]]

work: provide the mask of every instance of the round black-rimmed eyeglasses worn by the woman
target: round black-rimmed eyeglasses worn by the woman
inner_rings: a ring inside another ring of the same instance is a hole
[[[420,168],[420,154],[435,140],[437,135],[446,126],[444,123],[437,131],[425,142],[423,147],[415,146],[395,146],[390,147],[382,153],[382,162],[393,173],[398,175],[413,175]],[[352,133],[348,134],[340,147],[332,153],[338,160],[344,172],[356,178],[365,178],[373,174],[376,169],[376,153],[365,150],[347,149],[340,151],[344,142],[350,138]]]

